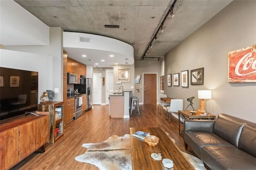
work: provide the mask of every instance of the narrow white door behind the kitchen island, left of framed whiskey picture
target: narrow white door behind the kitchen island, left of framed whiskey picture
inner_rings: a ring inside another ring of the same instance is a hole
[[[106,70],[106,105],[109,105],[108,97],[114,93],[114,72]]]

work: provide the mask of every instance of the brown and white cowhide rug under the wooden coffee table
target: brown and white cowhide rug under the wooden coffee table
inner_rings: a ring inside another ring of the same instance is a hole
[[[169,134],[166,133],[168,136]],[[170,140],[175,140],[169,136]],[[75,160],[97,166],[100,170],[132,170],[130,134],[124,136],[110,136],[101,143],[83,144],[87,148]],[[199,158],[182,152],[196,170],[206,170]]]

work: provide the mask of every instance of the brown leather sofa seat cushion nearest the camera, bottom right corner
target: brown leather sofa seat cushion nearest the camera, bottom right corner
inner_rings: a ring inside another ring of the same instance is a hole
[[[211,170],[255,170],[256,158],[236,147],[205,146],[202,161]]]

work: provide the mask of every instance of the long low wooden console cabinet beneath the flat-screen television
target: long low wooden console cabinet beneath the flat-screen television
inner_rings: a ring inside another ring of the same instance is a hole
[[[49,142],[49,113],[37,112],[36,114],[39,116],[20,116],[1,123],[1,170],[12,168]]]

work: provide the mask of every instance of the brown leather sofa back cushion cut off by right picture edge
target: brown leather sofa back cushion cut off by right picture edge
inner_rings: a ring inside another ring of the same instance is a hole
[[[256,157],[256,123],[247,122],[244,125],[238,148]]]

